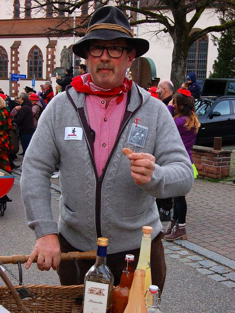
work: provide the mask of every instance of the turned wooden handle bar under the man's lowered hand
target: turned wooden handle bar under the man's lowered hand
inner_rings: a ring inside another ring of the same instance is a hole
[[[0,256],[0,261],[3,264],[17,264],[20,261],[21,264],[26,263],[29,259],[30,255],[11,255],[11,256]],[[61,261],[72,261],[73,258],[77,258],[78,260],[84,259],[95,259],[96,251],[86,251],[86,252],[68,252],[61,253]],[[37,262],[38,257],[33,260],[33,263]]]

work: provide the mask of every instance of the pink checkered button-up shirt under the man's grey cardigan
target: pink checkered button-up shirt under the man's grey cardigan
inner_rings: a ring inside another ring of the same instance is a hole
[[[123,100],[118,104],[117,99],[118,96],[113,98],[106,109],[105,98],[86,95],[88,122],[91,129],[96,133],[94,156],[99,177],[112,151],[123,120],[127,103],[127,92],[123,92]]]

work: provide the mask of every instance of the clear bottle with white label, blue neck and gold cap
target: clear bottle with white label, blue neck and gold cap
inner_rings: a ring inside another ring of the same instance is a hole
[[[84,279],[83,313],[105,313],[112,310],[113,275],[106,265],[107,238],[98,238],[96,263]]]

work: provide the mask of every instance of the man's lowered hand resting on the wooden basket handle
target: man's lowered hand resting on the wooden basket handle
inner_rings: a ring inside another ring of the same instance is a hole
[[[60,243],[57,234],[50,234],[36,240],[33,252],[25,265],[29,269],[35,257],[38,257],[37,265],[41,271],[54,270],[60,264]]]

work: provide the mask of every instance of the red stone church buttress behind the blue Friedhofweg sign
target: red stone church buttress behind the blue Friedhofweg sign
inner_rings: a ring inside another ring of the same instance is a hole
[[[19,46],[21,41],[14,41],[11,46],[11,73],[12,74],[20,74],[19,72]],[[9,77],[9,79],[11,79]],[[16,97],[19,92],[19,83],[18,81],[11,81],[11,95],[10,97]]]

